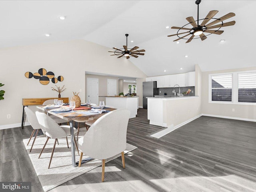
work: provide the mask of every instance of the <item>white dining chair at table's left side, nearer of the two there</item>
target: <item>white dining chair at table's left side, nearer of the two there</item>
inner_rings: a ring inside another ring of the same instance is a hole
[[[54,149],[55,149],[56,142],[57,142],[58,138],[66,138],[66,142],[67,142],[67,145],[68,145],[67,136],[70,136],[70,126],[68,126],[68,125],[61,125],[60,126],[52,118],[50,118],[47,114],[41,113],[41,112],[38,112],[38,111],[36,112],[36,117],[38,119],[38,123],[40,124],[41,129],[45,131],[45,134],[48,137],[46,139],[44,147],[42,148],[42,151],[41,151],[38,158],[40,158],[40,156],[41,156],[49,138],[55,139],[54,146],[52,148],[50,163],[49,163],[49,166],[48,166],[48,169],[49,169],[50,165],[51,165],[51,162],[52,162],[52,156],[53,156]],[[76,128],[74,128],[74,133],[76,133],[76,132],[77,132],[77,130],[76,130]],[[74,136],[74,142],[76,144],[75,136]],[[76,144],[76,149],[77,149],[78,154],[79,154],[77,144]]]

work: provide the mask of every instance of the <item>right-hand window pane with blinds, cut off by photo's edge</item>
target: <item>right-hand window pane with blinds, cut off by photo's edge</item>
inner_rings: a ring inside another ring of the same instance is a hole
[[[256,103],[256,72],[238,74],[238,102]]]

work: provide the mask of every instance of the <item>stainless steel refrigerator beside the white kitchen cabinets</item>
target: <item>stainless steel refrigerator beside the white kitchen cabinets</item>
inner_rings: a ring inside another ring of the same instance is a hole
[[[147,97],[154,97],[158,95],[158,88],[156,88],[156,81],[143,82],[143,108],[148,108]]]

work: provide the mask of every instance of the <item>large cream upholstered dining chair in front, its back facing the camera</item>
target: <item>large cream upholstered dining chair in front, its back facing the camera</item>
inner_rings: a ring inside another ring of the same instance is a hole
[[[102,160],[102,182],[104,182],[105,160],[117,154],[122,156],[124,163],[124,150],[126,149],[126,132],[130,110],[117,109],[101,116],[78,140],[81,151],[78,166],[81,166],[83,153],[94,159]]]

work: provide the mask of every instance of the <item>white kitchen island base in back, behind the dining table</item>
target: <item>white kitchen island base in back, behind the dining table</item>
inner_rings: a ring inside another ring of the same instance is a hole
[[[130,118],[134,118],[137,115],[138,110],[138,96],[99,96],[106,98],[106,105],[113,106],[116,109],[128,109],[130,110]]]

